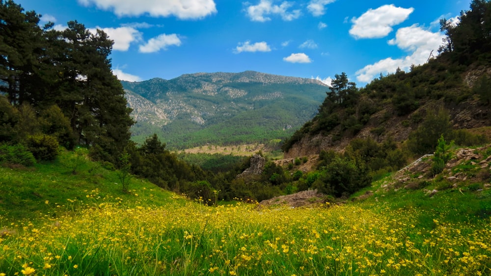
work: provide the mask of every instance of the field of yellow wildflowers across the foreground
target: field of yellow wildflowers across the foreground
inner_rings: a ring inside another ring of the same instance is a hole
[[[449,223],[368,201],[210,207],[174,196],[128,207],[97,190],[86,197],[98,204],[2,220],[0,275],[491,275],[489,217]]]

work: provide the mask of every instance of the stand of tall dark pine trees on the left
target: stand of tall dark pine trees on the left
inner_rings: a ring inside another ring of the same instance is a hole
[[[113,41],[76,21],[64,30],[41,27],[40,15],[13,1],[1,1],[0,14],[0,93],[7,97],[0,100],[0,141],[28,139],[32,147],[44,134],[67,149],[94,147],[93,157],[117,163],[134,121],[111,71]]]

